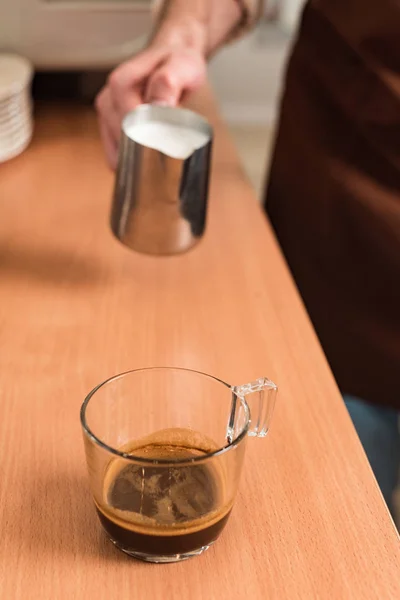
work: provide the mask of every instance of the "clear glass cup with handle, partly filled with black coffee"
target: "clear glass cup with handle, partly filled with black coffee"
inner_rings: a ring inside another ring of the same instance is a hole
[[[149,562],[201,554],[235,500],[247,437],[265,437],[277,387],[196,371],[129,371],[81,408],[90,485],[110,540]]]

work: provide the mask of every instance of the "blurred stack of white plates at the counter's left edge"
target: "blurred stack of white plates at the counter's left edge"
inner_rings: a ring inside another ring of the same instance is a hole
[[[32,138],[32,65],[14,54],[0,54],[0,163],[17,156]]]

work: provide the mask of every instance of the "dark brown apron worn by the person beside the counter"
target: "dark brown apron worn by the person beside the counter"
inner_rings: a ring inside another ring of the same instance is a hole
[[[267,211],[343,393],[400,409],[400,1],[312,0]]]

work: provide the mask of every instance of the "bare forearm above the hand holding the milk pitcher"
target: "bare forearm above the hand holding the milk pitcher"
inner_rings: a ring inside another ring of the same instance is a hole
[[[166,0],[152,41],[209,56],[231,36],[242,18],[237,0]]]

